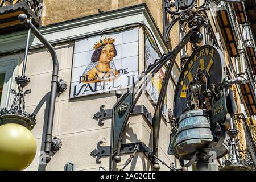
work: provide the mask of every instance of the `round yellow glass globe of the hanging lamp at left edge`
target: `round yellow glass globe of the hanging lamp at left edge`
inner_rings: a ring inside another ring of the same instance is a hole
[[[36,155],[36,141],[30,130],[16,123],[0,126],[0,170],[26,169]]]

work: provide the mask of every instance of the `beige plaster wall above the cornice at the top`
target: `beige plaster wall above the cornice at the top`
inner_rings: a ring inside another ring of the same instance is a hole
[[[162,0],[44,0],[43,25],[63,22],[74,18],[98,14],[122,7],[146,3],[159,29],[162,32]]]

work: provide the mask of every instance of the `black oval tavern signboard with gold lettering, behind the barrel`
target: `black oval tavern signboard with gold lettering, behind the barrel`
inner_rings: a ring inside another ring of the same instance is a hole
[[[179,118],[191,109],[209,109],[210,102],[203,91],[210,85],[220,84],[225,77],[226,65],[220,49],[210,45],[196,49],[187,60],[175,90],[174,117]]]

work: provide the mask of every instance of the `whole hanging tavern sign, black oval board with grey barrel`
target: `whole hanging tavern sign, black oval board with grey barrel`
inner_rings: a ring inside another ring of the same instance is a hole
[[[217,159],[228,152],[224,126],[215,124],[228,114],[224,78],[224,56],[209,45],[197,48],[181,72],[174,99],[177,126],[169,151],[181,166],[189,167],[196,160],[207,164],[210,151],[216,152]]]

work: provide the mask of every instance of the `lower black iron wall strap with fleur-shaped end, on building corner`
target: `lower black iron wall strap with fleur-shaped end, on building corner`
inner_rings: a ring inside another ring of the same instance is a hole
[[[97,148],[90,152],[90,154],[96,156],[97,163],[101,163],[100,158],[110,156],[110,146],[101,146],[102,143],[102,141],[98,142]],[[138,149],[137,146],[139,146]],[[131,154],[135,150],[138,150],[138,152],[144,152],[147,158],[151,162],[153,161],[151,148],[147,147],[143,142],[121,144],[120,154]]]

